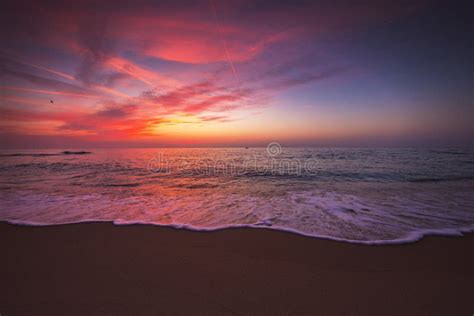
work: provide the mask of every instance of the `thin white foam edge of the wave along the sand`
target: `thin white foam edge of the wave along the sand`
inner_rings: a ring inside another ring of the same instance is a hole
[[[226,229],[234,229],[234,228],[250,228],[250,229],[267,229],[267,230],[274,230],[274,231],[281,231],[287,233],[293,233],[300,236],[317,238],[317,239],[324,239],[324,240],[332,240],[338,242],[345,242],[350,244],[361,244],[361,245],[402,245],[402,244],[409,244],[420,241],[426,236],[444,236],[444,237],[462,237],[464,234],[473,233],[474,232],[474,225],[460,227],[460,228],[440,228],[440,229],[423,229],[423,230],[416,230],[408,233],[404,237],[397,238],[397,239],[387,239],[387,240],[355,240],[355,239],[345,239],[339,237],[331,237],[327,235],[317,235],[317,234],[307,234],[296,229],[285,228],[285,227],[278,227],[278,226],[261,226],[261,225],[244,225],[244,224],[236,224],[236,225],[226,225],[226,226],[218,226],[212,228],[202,228],[202,227],[194,227],[190,225],[183,225],[183,224],[158,224],[158,223],[151,223],[151,222],[144,222],[144,221],[124,221],[124,220],[97,220],[97,219],[84,219],[79,221],[72,221],[72,222],[62,222],[62,223],[39,223],[39,222],[31,222],[31,221],[21,221],[21,220],[0,220],[0,223],[9,223],[12,225],[19,225],[19,226],[36,226],[36,227],[43,227],[43,226],[60,226],[60,225],[73,225],[73,224],[81,224],[81,223],[112,223],[116,226],[128,226],[128,225],[150,225],[150,226],[158,226],[158,227],[169,227],[175,229],[183,229],[188,231],[195,231],[195,232],[215,232],[215,231],[222,231]]]

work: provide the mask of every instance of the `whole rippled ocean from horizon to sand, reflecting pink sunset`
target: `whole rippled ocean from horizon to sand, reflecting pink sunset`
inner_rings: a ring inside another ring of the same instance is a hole
[[[253,227],[405,243],[474,229],[474,151],[387,148],[3,150],[0,220]]]

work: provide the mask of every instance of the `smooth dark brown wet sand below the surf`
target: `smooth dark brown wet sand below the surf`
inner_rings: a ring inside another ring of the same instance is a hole
[[[0,224],[0,314],[472,315],[474,235],[363,246],[290,233]]]

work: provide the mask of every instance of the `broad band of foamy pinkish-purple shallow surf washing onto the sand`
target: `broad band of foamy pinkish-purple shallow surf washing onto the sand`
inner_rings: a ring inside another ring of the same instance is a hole
[[[25,205],[36,205],[27,209]],[[419,240],[425,235],[460,236],[473,230],[470,213],[450,216],[438,210],[381,209],[377,204],[334,192],[298,192],[278,197],[200,196],[167,200],[101,195],[76,197],[27,193],[5,203],[3,220],[22,225],[60,225],[113,222],[116,225],[152,224],[215,231],[251,227],[362,244],[392,244]],[[231,207],[229,207],[231,206]],[[406,215],[412,215],[406,220]],[[416,216],[415,216],[416,215]],[[459,218],[457,218],[459,217]],[[428,223],[425,221],[429,219]],[[459,220],[459,222],[458,222]]]

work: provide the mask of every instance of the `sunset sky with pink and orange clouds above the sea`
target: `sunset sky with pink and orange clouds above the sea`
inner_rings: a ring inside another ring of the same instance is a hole
[[[9,1],[0,148],[473,144],[468,1]]]

